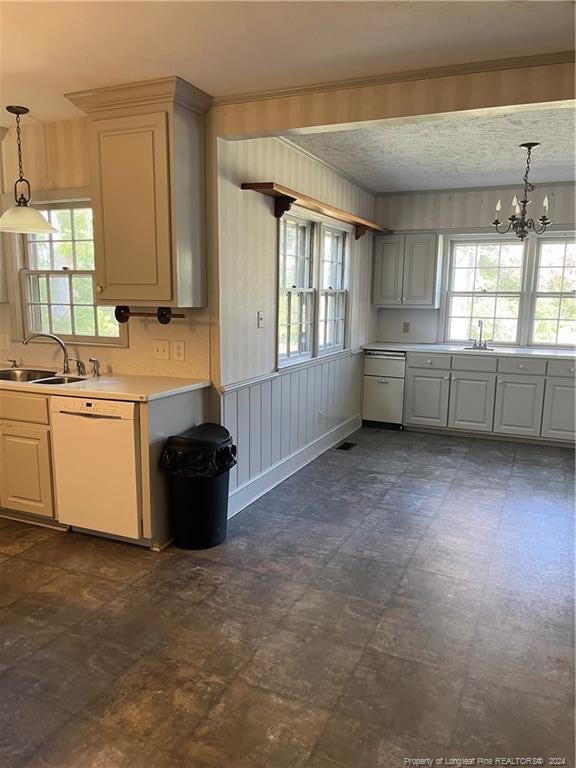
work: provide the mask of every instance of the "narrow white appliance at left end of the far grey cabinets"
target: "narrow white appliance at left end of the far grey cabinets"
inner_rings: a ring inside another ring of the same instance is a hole
[[[402,424],[406,353],[367,350],[364,358],[362,419]]]

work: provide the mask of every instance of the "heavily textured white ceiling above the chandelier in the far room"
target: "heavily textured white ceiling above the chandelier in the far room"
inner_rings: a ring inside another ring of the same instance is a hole
[[[289,138],[367,189],[397,192],[516,184],[525,141],[541,143],[531,181],[573,181],[575,128],[574,108],[565,107],[388,120]]]

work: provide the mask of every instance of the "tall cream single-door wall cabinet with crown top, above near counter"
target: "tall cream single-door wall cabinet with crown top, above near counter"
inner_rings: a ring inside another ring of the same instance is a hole
[[[100,304],[206,304],[204,114],[178,77],[68,94],[88,116]]]

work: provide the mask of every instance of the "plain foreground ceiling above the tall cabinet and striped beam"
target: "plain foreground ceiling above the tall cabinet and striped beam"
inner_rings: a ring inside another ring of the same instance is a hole
[[[152,77],[237,95],[569,50],[574,37],[573,3],[554,0],[0,0],[0,13],[2,103],[42,121],[80,114],[64,93]]]

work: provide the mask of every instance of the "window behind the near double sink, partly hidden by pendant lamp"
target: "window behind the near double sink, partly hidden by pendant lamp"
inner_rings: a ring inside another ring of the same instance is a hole
[[[96,306],[92,209],[86,202],[38,206],[58,230],[26,235],[20,271],[26,334],[55,333],[66,341],[120,344],[126,332],[114,307]]]

